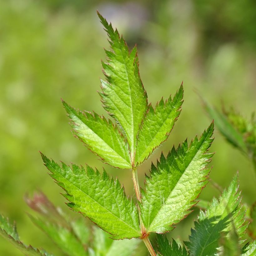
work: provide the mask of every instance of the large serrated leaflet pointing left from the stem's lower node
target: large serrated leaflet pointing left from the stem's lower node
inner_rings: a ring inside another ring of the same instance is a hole
[[[139,214],[133,200],[127,199],[119,180],[114,181],[104,170],[102,175],[86,166],[62,163],[62,168],[45,155],[42,159],[57,184],[66,191],[71,209],[82,213],[113,239],[140,237]]]

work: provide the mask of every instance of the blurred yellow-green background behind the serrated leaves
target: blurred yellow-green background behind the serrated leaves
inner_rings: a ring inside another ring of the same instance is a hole
[[[42,190],[66,209],[61,189],[47,175],[38,150],[66,163],[102,166],[134,195],[129,170],[104,165],[76,140],[60,98],[71,106],[103,114],[100,97],[103,47],[109,48],[96,10],[138,45],[140,75],[149,102],[174,94],[184,81],[184,104],[165,144],[139,168],[143,186],[151,160],[173,144],[191,140],[210,124],[200,95],[209,103],[234,106],[245,116],[255,110],[256,3],[254,0],[88,1],[0,0],[0,212],[16,220],[21,239],[61,255],[34,227],[23,201]],[[106,113],[104,113],[106,115]],[[215,130],[210,177],[225,187],[239,170],[243,202],[255,200],[252,164]],[[200,198],[219,191],[209,183]],[[198,210],[170,233],[188,239]],[[0,238],[0,255],[22,255]]]

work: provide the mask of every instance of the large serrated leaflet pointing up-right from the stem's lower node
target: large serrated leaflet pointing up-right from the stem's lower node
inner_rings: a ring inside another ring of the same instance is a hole
[[[151,178],[146,177],[140,204],[141,217],[147,232],[164,233],[174,229],[190,213],[202,188],[207,184],[209,170],[206,166],[213,154],[206,153],[213,139],[213,123],[202,136],[187,140],[167,155],[162,154]]]

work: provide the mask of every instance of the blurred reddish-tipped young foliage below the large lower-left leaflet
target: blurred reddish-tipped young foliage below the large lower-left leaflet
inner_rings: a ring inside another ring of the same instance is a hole
[[[85,218],[71,220],[61,208],[57,208],[42,192],[33,197],[25,196],[28,206],[43,218],[35,218],[29,214],[32,222],[46,233],[52,241],[67,255],[87,255],[90,230]]]

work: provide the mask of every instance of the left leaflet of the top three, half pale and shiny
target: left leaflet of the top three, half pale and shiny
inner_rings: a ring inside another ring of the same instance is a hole
[[[128,144],[113,123],[96,113],[76,111],[62,101],[67,111],[77,138],[83,141],[88,149],[114,167],[130,169],[131,160]]]

